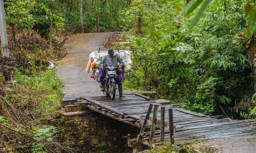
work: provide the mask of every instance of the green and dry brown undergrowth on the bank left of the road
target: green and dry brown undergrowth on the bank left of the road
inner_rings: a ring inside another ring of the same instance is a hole
[[[53,59],[64,57],[64,36],[49,42],[36,31],[19,31],[9,59],[0,59],[0,152],[72,152],[47,124],[61,108],[62,84]],[[3,81],[4,80],[4,81]]]

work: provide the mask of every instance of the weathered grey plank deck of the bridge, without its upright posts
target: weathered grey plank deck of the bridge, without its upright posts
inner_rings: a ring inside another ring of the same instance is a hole
[[[138,95],[130,94],[121,99],[118,99],[117,96],[114,101],[111,101],[111,99],[106,96],[84,97],[76,104],[81,104],[95,112],[141,128],[150,103],[155,104],[154,101],[148,101]],[[175,141],[209,140],[256,134],[256,120],[218,119],[218,117],[211,117],[201,113],[174,108],[173,105],[164,106],[173,108]],[[165,114],[168,114],[167,111],[168,109],[166,109]],[[160,119],[159,115],[160,109],[157,113],[158,119]],[[165,121],[167,123],[168,115],[166,115]],[[148,124],[147,128],[149,129],[150,126],[151,125]],[[165,139],[168,140],[170,137],[168,126],[166,126],[165,129]],[[156,126],[156,136],[154,138],[156,144],[160,141],[159,134],[159,127]],[[150,132],[144,133],[141,143],[149,145],[147,141],[149,135]],[[135,143],[136,139],[130,140],[130,142]]]

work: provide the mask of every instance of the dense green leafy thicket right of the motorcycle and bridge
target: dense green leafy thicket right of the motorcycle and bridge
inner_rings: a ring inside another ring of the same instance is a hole
[[[196,8],[189,11],[191,17],[175,22],[180,7],[169,1],[150,1],[149,6],[145,1],[134,1],[125,10],[130,18],[124,18],[124,23],[132,23],[140,12],[144,29],[140,38],[128,36],[132,41],[125,43],[136,48],[132,57],[134,71],[140,71],[129,74],[127,80],[128,84],[156,90],[159,98],[188,103],[185,107],[189,110],[211,114],[220,106],[234,106],[235,101],[239,103],[253,94],[253,73],[243,45],[247,24],[241,3],[230,1],[223,7],[214,1],[216,6],[208,9],[210,1],[196,3],[202,3],[205,15],[196,19],[198,25],[190,33],[190,24],[186,23],[194,22],[191,12]]]

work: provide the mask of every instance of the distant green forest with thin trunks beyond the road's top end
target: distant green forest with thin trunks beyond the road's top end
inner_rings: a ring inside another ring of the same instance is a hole
[[[79,33],[80,27],[80,1],[63,1],[65,13],[65,28],[68,31]],[[127,6],[124,0],[115,1],[83,1],[83,22],[86,32],[95,31],[96,15],[99,15],[99,29],[119,29],[120,11]]]

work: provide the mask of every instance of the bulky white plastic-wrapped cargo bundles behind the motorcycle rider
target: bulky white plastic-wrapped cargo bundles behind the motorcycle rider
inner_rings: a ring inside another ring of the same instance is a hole
[[[124,73],[132,71],[132,61],[131,61],[131,51],[127,50],[115,50],[114,54],[119,55],[122,61],[124,62]],[[100,82],[99,78],[102,73],[100,69],[100,64],[104,56],[108,55],[108,51],[94,51],[89,55],[89,61],[86,67],[87,73],[92,73],[91,78],[97,79]],[[124,73],[120,73],[120,78],[124,81]],[[122,79],[123,78],[123,79]]]

